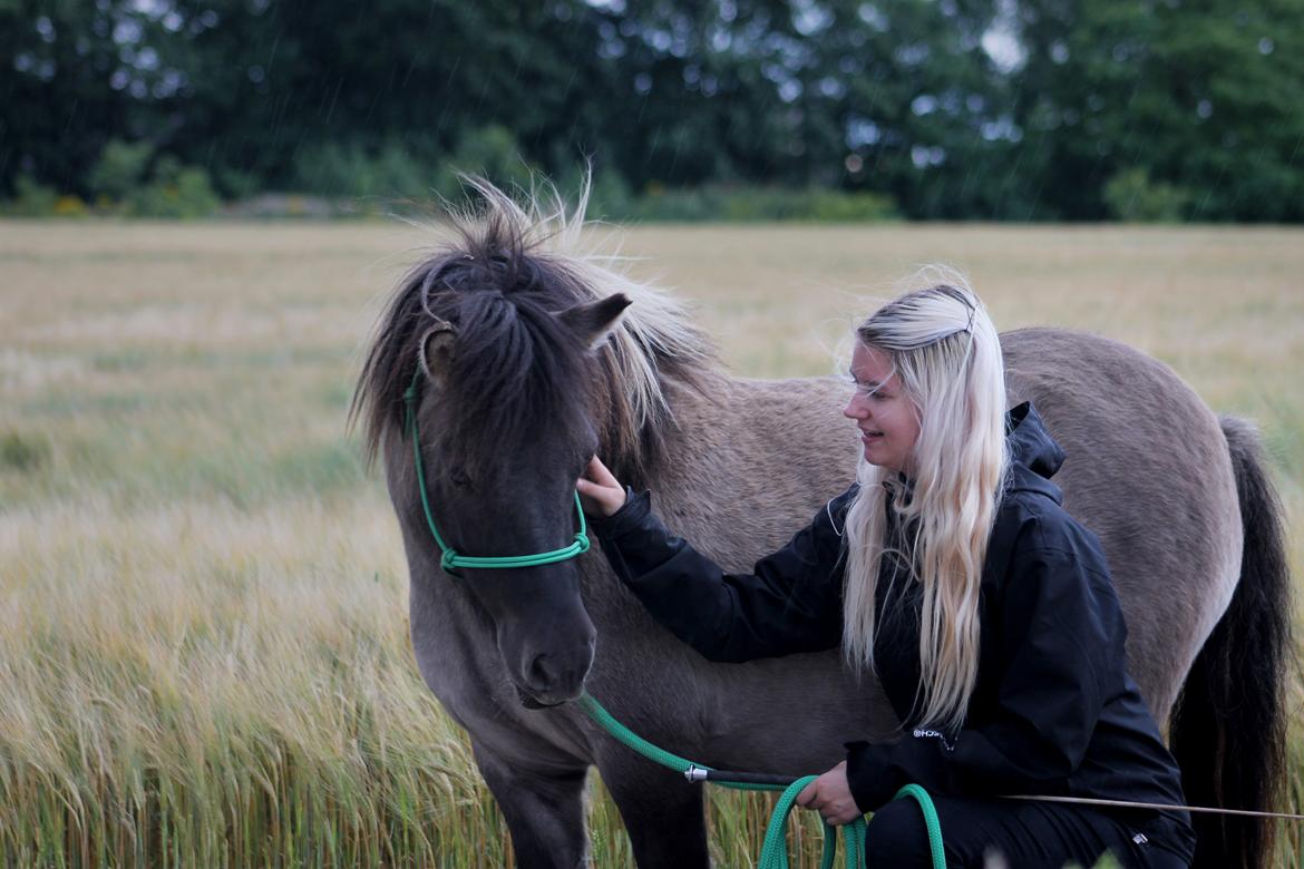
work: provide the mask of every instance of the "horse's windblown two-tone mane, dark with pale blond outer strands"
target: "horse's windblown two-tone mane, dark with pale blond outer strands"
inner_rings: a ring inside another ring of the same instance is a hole
[[[587,181],[570,212],[550,185],[522,205],[482,178],[464,181],[477,202],[445,207],[449,240],[400,280],[359,375],[348,423],[364,421],[368,464],[402,433],[426,332],[446,321],[456,337],[441,390],[456,412],[437,430],[460,460],[485,466],[587,410],[604,460],[630,482],[647,479],[674,426],[670,392],[705,393],[720,371],[715,348],[687,307],[631,278],[618,251],[585,246]],[[556,314],[614,293],[632,305],[591,352]]]

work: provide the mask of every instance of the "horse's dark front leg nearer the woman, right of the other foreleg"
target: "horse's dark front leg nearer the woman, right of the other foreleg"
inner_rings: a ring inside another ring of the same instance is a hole
[[[619,748],[599,757],[597,767],[621,819],[639,869],[708,869],[702,787],[683,775]]]

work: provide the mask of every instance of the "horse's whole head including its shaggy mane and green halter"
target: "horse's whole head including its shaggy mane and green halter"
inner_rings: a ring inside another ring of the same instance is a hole
[[[477,189],[486,212],[455,224],[455,242],[395,293],[352,414],[366,418],[370,457],[383,451],[412,581],[460,586],[492,623],[520,700],[556,705],[580,694],[593,662],[578,563],[515,556],[576,541],[575,479],[589,456],[638,481],[668,414],[655,352],[675,348],[622,323],[638,285],[544,250],[556,233],[532,237],[533,215]],[[683,361],[702,356],[682,349]],[[490,560],[458,567],[449,548]]]

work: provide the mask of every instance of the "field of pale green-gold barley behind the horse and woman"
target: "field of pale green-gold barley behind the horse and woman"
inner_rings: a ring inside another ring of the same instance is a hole
[[[1140,347],[1258,422],[1304,577],[1301,231],[604,232],[738,374],[832,371],[863,297],[927,262],[1001,328]],[[398,526],[344,430],[381,301],[437,240],[0,221],[0,866],[511,865],[417,676]],[[593,791],[596,865],[631,865]],[[719,865],[759,853],[764,803],[712,796]]]

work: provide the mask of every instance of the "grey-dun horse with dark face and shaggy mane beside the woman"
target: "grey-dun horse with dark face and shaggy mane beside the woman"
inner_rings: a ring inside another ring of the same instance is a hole
[[[900,722],[837,651],[708,663],[656,624],[597,554],[445,569],[456,551],[545,552],[575,535],[575,479],[599,453],[651,489],[669,526],[726,571],[777,548],[854,478],[836,378],[730,375],[690,310],[584,246],[584,202],[479,207],[399,283],[366,352],[351,423],[383,456],[411,572],[417,667],[466,728],[522,866],[588,861],[596,766],[639,866],[707,866],[698,787],[601,732],[583,692],[702,763],[793,776]],[[1284,776],[1290,577],[1253,427],[1219,420],[1164,365],[1090,335],[1001,336],[1012,401],[1035,403],[1068,461],[1067,508],[1101,538],[1129,668],[1167,723],[1193,804],[1262,809]],[[420,422],[407,422],[404,396]],[[416,453],[415,453],[416,448]],[[799,732],[782,713],[799,710]],[[778,714],[776,714],[776,711]],[[1257,866],[1261,822],[1196,816],[1197,864]]]

